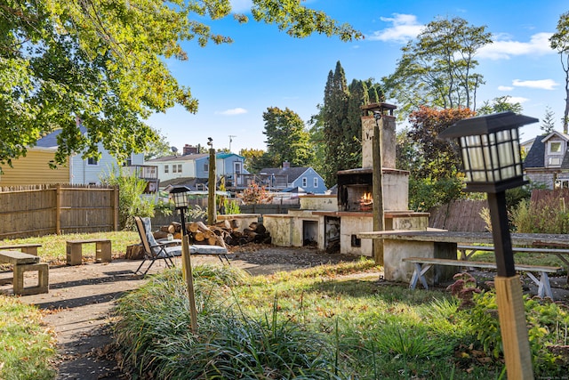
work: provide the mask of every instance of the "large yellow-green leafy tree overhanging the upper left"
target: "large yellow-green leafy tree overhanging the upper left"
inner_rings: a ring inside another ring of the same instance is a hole
[[[166,60],[187,60],[180,42],[230,43],[205,22],[231,14],[228,0],[4,0],[0,4],[0,164],[61,129],[56,163],[98,143],[119,161],[159,137],[144,120],[197,100]],[[247,21],[234,15],[237,22]],[[252,17],[290,36],[361,37],[299,1],[252,0]],[[87,128],[79,133],[78,120]]]

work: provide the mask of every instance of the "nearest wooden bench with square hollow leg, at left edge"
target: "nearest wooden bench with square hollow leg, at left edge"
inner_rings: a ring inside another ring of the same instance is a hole
[[[40,263],[39,257],[19,251],[0,251],[0,263],[13,265],[14,295],[38,295],[49,292],[49,266]],[[37,271],[37,286],[24,287],[24,273]]]

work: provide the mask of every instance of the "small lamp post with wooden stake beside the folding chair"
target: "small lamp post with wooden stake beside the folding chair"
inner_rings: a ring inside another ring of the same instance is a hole
[[[186,217],[184,211],[188,209],[188,187],[175,186],[170,195],[177,210],[180,210],[181,222],[181,266],[184,279],[186,279],[186,287],[188,288],[188,302],[189,302],[189,319],[191,323],[192,333],[197,334],[197,309],[196,309],[196,295],[194,292],[194,278],[192,276],[192,263],[189,255],[189,237],[188,230],[186,230]]]

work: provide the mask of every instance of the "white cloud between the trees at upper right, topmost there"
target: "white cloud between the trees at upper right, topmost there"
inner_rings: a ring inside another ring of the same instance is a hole
[[[479,58],[489,60],[509,60],[517,55],[544,55],[556,53],[549,47],[551,33],[534,34],[529,42],[512,41],[508,36],[493,36],[493,44],[487,44],[478,50]]]

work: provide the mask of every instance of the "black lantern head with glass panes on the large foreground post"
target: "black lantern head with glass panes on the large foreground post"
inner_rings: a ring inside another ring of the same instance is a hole
[[[441,138],[457,138],[466,174],[466,191],[500,192],[524,185],[518,128],[534,117],[500,112],[469,117],[451,125]]]

